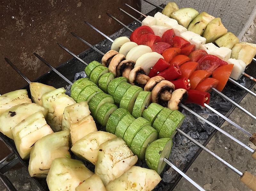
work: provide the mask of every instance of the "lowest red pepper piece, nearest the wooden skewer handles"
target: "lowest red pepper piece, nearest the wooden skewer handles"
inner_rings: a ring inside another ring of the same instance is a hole
[[[210,102],[210,93],[208,92],[199,92],[197,90],[188,90],[188,99],[185,103],[195,103],[200,106],[204,106],[204,103],[209,104]]]

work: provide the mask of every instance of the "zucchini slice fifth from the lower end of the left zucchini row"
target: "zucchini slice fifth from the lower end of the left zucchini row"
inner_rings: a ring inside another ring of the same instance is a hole
[[[116,127],[119,123],[119,121],[124,117],[124,115],[129,114],[129,112],[126,109],[118,108],[116,111],[114,111],[107,122],[106,125],[106,131],[112,134],[115,134]]]

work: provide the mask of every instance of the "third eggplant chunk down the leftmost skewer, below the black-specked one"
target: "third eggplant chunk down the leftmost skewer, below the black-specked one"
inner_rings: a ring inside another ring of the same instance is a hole
[[[12,128],[14,143],[22,159],[29,158],[36,141],[51,133],[53,131],[46,123],[41,111],[30,115]]]

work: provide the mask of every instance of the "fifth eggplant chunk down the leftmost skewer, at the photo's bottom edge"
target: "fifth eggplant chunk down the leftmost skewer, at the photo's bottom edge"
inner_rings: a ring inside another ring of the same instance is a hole
[[[55,158],[46,181],[50,191],[75,190],[92,175],[93,173],[79,160]]]

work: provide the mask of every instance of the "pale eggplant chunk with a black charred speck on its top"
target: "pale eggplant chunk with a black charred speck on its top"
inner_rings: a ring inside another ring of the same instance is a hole
[[[11,129],[28,116],[41,111],[47,116],[47,109],[35,103],[23,103],[13,106],[0,115],[0,132],[13,139]]]

